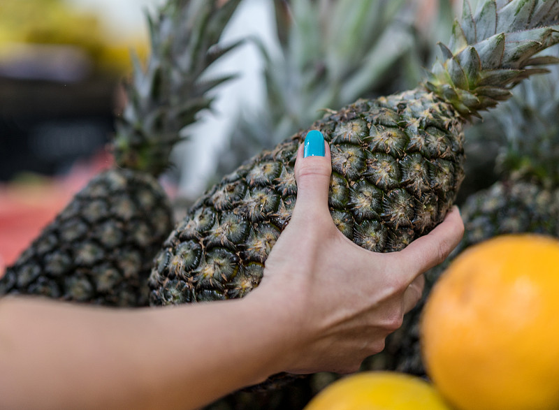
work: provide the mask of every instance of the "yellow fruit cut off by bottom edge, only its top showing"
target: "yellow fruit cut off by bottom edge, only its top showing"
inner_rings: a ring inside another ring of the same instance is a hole
[[[316,395],[305,410],[449,410],[433,385],[398,372],[344,377]]]

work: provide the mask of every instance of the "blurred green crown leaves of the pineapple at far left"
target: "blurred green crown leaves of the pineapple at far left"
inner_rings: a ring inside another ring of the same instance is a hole
[[[168,168],[170,152],[182,140],[180,131],[196,121],[198,112],[211,108],[209,91],[235,77],[202,78],[243,42],[218,45],[240,1],[168,0],[147,15],[151,53],[145,68],[132,56],[128,101],[112,142],[118,166],[154,176]]]

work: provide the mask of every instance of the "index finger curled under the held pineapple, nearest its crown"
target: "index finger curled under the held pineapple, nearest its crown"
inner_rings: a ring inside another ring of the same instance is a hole
[[[409,281],[413,281],[418,274],[442,263],[458,245],[463,234],[464,224],[460,211],[454,206],[435,229],[400,251],[405,264],[402,270],[409,274]]]

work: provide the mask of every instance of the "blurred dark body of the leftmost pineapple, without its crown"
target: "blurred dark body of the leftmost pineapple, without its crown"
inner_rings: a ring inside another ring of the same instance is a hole
[[[75,195],[0,279],[0,295],[147,305],[147,277],[173,228],[173,211],[150,175],[111,169]]]

